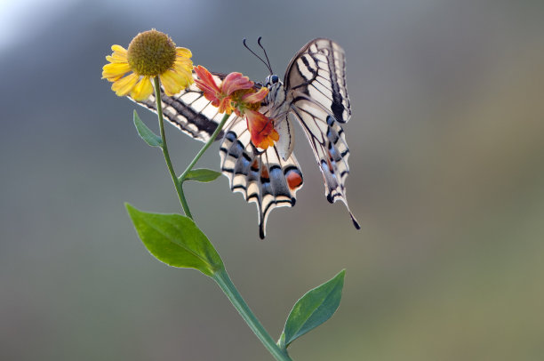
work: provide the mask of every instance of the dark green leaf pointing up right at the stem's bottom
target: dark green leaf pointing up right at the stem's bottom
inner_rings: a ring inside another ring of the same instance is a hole
[[[340,305],[345,274],[346,270],[342,269],[330,281],[308,291],[295,303],[278,341],[281,349],[287,349],[292,341],[332,317]]]

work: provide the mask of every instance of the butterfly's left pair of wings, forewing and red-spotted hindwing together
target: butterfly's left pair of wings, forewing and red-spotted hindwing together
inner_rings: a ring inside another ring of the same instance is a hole
[[[225,76],[214,73],[213,77],[220,84]],[[172,97],[163,93],[162,100],[164,118],[196,140],[209,140],[223,117],[196,84]],[[155,94],[138,103],[156,112]],[[267,110],[260,109],[263,113]],[[295,193],[303,183],[299,163],[294,156],[287,160],[278,156],[276,147],[264,152],[253,147],[245,119],[235,114],[230,116],[217,139],[222,139],[221,172],[227,176],[233,192],[242,193],[247,202],[257,205],[259,234],[264,238],[268,214],[276,207],[295,204]]]

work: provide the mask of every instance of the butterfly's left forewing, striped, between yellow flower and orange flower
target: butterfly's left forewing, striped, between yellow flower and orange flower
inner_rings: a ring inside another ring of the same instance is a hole
[[[193,77],[196,77],[194,72]],[[220,84],[225,76],[214,74],[213,77]],[[191,84],[187,89],[172,97],[163,92],[162,100],[164,118],[178,127],[181,132],[187,133],[196,140],[208,141],[223,117],[223,114],[218,112],[218,108],[213,107],[212,102],[204,98],[204,93],[196,84]],[[137,103],[156,113],[155,92],[148,99],[137,101]],[[232,119],[234,116],[231,116],[228,123]],[[220,140],[223,135],[224,132],[221,131],[217,140]]]

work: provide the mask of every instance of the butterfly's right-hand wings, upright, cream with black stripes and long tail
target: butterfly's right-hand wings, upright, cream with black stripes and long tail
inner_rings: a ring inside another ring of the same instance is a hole
[[[349,149],[340,124],[348,122],[351,108],[343,49],[328,39],[310,41],[291,60],[284,86],[291,112],[300,121],[323,173],[327,200],[334,203],[340,199],[348,207]]]

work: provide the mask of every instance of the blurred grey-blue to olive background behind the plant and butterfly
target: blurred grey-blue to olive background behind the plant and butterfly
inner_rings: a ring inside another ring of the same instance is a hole
[[[111,44],[157,28],[196,64],[277,74],[327,36],[347,52],[348,199],[306,185],[258,238],[228,180],[187,186],[196,220],[268,331],[347,269],[295,360],[544,359],[541,1],[0,2],[0,359],[271,360],[220,289],[140,243],[124,201],[180,212],[135,105],[100,79]],[[150,126],[156,118],[144,109]],[[168,126],[174,163],[201,143]],[[216,168],[218,146],[200,165]]]

